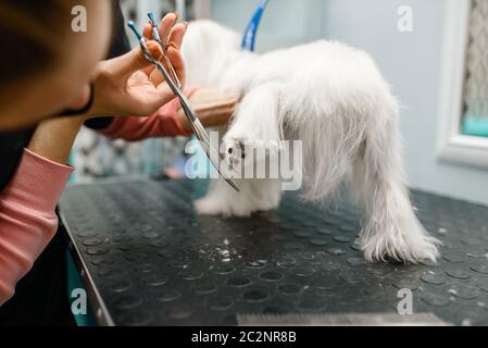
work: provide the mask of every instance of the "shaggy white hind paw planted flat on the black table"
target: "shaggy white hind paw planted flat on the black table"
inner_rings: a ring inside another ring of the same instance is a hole
[[[367,261],[395,261],[418,263],[436,262],[441,243],[426,232],[375,233],[362,239],[361,246]]]

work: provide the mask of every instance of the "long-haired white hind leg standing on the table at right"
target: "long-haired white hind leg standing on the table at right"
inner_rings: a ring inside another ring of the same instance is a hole
[[[387,103],[386,103],[387,104]],[[383,107],[381,107],[383,108]],[[403,179],[396,105],[376,112],[353,165],[352,190],[365,206],[361,245],[367,260],[436,260],[439,241],[417,220]],[[379,126],[380,125],[380,126]]]

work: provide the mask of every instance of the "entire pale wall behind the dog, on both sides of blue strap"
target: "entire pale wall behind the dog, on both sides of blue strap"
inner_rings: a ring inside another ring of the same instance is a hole
[[[255,4],[255,0],[212,0],[212,15],[243,30]],[[413,9],[413,33],[397,29],[400,5]],[[488,203],[488,172],[439,163],[436,158],[446,8],[445,0],[272,0],[259,48],[325,37],[368,51],[403,105],[401,133],[411,185]]]

